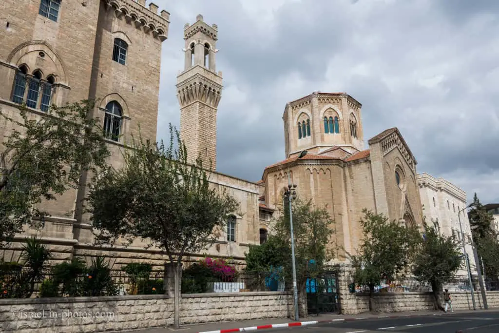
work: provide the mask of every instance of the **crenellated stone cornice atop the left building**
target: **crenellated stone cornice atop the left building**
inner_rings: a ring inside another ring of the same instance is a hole
[[[168,11],[162,10],[159,15],[133,0],[105,0],[105,3],[108,9],[114,9],[116,17],[125,17],[129,24],[135,24],[137,28],[142,26],[146,33],[153,31],[152,35],[161,41],[168,37],[170,24]],[[155,8],[157,9],[157,6]]]

